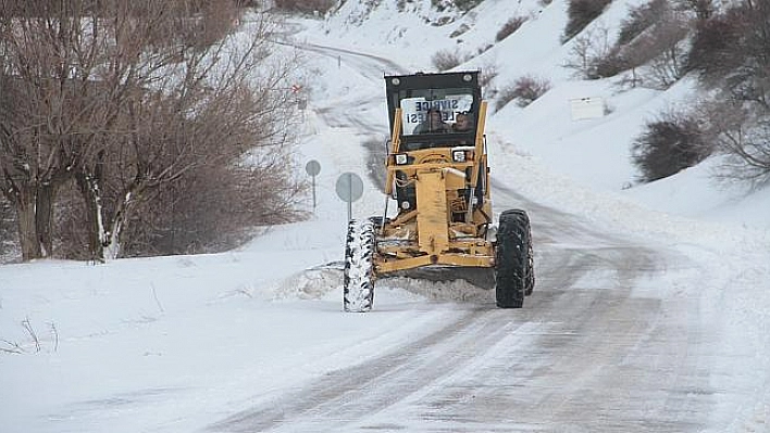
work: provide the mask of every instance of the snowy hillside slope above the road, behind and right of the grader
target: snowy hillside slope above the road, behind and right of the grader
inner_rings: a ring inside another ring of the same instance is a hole
[[[564,44],[560,41],[567,1],[544,7],[539,0],[486,0],[468,13],[437,12],[430,0],[409,2],[399,9],[400,3],[345,2],[319,26],[318,35],[331,47],[355,47],[401,59],[401,65],[412,72],[433,71],[431,60],[436,52],[455,50],[469,58],[457,69],[497,73],[487,89],[493,105],[494,91],[523,75],[549,80],[552,88],[542,99],[526,110],[507,104],[492,116],[488,129],[518,152],[542,160],[588,188],[620,192],[636,184],[638,173],[631,164],[630,147],[644,123],[662,110],[692,104],[699,97],[700,90],[691,79],[666,91],[623,89],[619,79],[574,79],[574,72],[564,65],[579,38]],[[638,4],[635,0],[611,2],[582,35],[601,30],[613,38],[629,9]],[[497,31],[513,16],[527,20],[519,30],[495,43]],[[609,114],[599,119],[572,120],[570,101],[583,98],[601,99]],[[716,160],[674,176],[676,180],[635,187],[622,194],[665,212],[759,228],[770,226],[763,217],[770,213],[770,191],[748,191],[746,186],[718,182],[712,176],[720,163]],[[672,187],[672,182],[687,187]],[[698,193],[691,191],[693,187]],[[741,211],[743,206],[749,212]]]

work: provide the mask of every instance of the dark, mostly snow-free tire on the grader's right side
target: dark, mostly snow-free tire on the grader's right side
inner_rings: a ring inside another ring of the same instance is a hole
[[[500,308],[521,308],[534,290],[530,217],[520,209],[500,215],[495,250],[495,294]]]

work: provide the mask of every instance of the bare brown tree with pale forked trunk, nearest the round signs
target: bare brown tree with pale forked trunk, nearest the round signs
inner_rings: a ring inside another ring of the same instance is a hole
[[[103,209],[110,215],[104,219],[112,221],[103,235],[114,238],[107,244],[117,246],[116,234],[133,206],[141,206],[144,218],[153,218],[149,226],[159,230],[132,233],[154,237],[165,245],[156,245],[163,253],[200,250],[196,245],[212,240],[209,234],[237,231],[225,227],[228,224],[284,222],[297,215],[289,205],[301,189],[287,174],[285,149],[295,104],[287,91],[277,89],[285,78],[278,72],[288,69],[270,68],[271,75],[256,77],[253,65],[244,66],[210,77],[216,86],[179,88],[197,93],[184,106],[162,95],[138,105],[129,128],[135,132],[121,147],[120,166],[114,168],[121,182],[112,188],[112,205]],[[253,80],[264,87],[251,88]],[[167,122],[174,116],[182,118]],[[263,199],[253,200],[257,196]],[[149,199],[150,206],[140,203]],[[198,239],[184,234],[192,231],[200,233]],[[135,246],[134,253],[147,251]]]

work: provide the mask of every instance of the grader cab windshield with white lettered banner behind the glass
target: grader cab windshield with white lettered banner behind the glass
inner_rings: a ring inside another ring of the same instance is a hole
[[[424,89],[409,93],[399,100],[405,136],[474,129],[471,89]]]

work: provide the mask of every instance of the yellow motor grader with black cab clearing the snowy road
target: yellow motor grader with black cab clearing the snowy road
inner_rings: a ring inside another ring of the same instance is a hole
[[[479,74],[385,76],[392,131],[385,212],[348,225],[346,311],[372,308],[378,278],[426,268],[489,275],[500,308],[521,308],[532,293],[526,212],[502,212],[493,225]],[[392,201],[398,211],[388,217]]]

